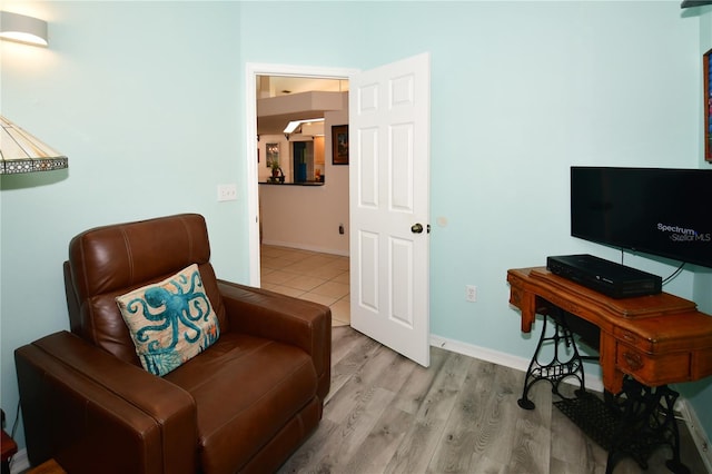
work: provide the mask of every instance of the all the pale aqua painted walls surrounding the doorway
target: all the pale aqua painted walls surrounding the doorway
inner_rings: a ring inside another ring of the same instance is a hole
[[[0,46],[2,115],[70,168],[2,178],[11,422],[12,350],[68,326],[60,265],[78,231],[198,211],[218,274],[247,280],[247,62],[368,69],[431,52],[432,330],[517,356],[534,343],[507,305],[507,268],[553,254],[619,258],[568,237],[568,167],[700,166],[703,21],[679,1],[12,4],[50,21],[51,46]],[[230,181],[238,201],[216,203]],[[691,298],[693,287],[686,271],[666,289]]]

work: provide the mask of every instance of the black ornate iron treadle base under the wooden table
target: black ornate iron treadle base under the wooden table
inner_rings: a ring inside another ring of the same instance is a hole
[[[554,406],[609,452],[606,474],[613,473],[615,465],[624,457],[632,457],[642,470],[647,470],[647,460],[661,446],[669,446],[672,451],[672,458],[665,464],[668,468],[675,474],[689,474],[690,470],[680,460],[680,434],[673,409],[678,392],[668,385],[649,387],[626,375],[621,393],[614,395],[605,391],[604,399],[599,398],[586,391],[583,371],[584,359],[597,361],[599,357],[582,356],[574,332],[570,329],[570,326],[576,327],[580,318],[555,306],[542,313],[545,313],[542,334],[526,371],[517,405],[534,409],[528,392],[537,382],[547,381],[552,385],[552,393],[560,398]],[[551,327],[547,324],[550,318]],[[553,346],[553,359],[551,355],[541,354],[544,346]],[[551,362],[543,364],[540,356]],[[578,385],[573,397],[566,397],[560,389],[561,383],[570,377]]]

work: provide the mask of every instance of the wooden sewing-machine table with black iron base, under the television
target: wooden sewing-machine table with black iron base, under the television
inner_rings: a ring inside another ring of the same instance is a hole
[[[577,398],[560,402],[562,405],[557,406],[571,414],[576,403],[583,405],[585,357],[578,355],[574,343],[573,356],[562,361],[558,346],[570,347],[573,343],[567,319],[591,326],[596,329],[606,402],[616,412],[611,422],[613,435],[602,443],[609,448],[606,472],[612,472],[622,455],[632,455],[645,468],[650,450],[661,444],[673,450],[668,466],[676,473],[689,472],[680,461],[673,413],[678,393],[666,385],[712,375],[712,317],[699,312],[693,302],[666,293],[610,298],[544,267],[511,269],[507,282],[510,303],[522,312],[522,332],[530,333],[536,314],[544,315],[542,336],[526,373],[520,406],[534,408],[527,397],[534,383],[546,379],[554,393],[561,395],[558,384],[566,377],[577,378],[581,391]],[[548,317],[555,324],[551,337],[546,335]],[[544,344],[553,345],[555,354],[554,362],[546,365],[538,362]],[[595,426],[589,428],[584,431],[601,433]],[[647,440],[646,444],[641,445],[641,438]]]

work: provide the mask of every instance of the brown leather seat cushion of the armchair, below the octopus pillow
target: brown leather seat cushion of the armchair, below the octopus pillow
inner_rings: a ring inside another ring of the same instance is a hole
[[[196,401],[204,472],[245,465],[315,397],[317,386],[304,350],[236,333],[221,335],[165,378]]]

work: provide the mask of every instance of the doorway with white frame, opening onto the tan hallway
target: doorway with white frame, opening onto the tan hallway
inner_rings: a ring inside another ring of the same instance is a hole
[[[254,226],[249,231],[250,284],[277,289],[275,282],[281,279],[289,286],[281,285],[278,290],[327,304],[337,319],[338,314],[349,309],[348,167],[333,167],[328,135],[333,125],[348,124],[348,78],[355,71],[264,65],[248,65],[247,69],[247,155],[248,176],[251,177],[248,206],[254,213],[250,218]],[[289,99],[293,102],[304,98],[312,102],[323,99],[315,98],[313,92],[344,92],[342,106],[345,107],[327,105],[320,109],[320,106],[297,105],[295,108],[289,105]],[[313,97],[307,97],[310,93]],[[266,98],[276,98],[268,105],[277,103],[283,109],[268,109],[264,113],[263,105],[268,101],[261,99]],[[339,108],[343,109],[340,115]],[[307,128],[305,122],[290,132],[285,131],[289,121],[315,118],[324,120],[322,129]],[[295,147],[305,155],[308,150],[309,165],[301,170],[297,167]],[[265,179],[270,171],[267,160],[276,156],[285,182],[270,186]],[[297,176],[297,172],[306,176]],[[287,203],[296,204],[297,210],[285,209]],[[313,217],[315,220],[310,220]],[[288,233],[276,233],[275,227],[286,228]],[[308,233],[328,238],[303,238]],[[277,268],[284,264],[290,267],[288,271]],[[342,319],[348,324],[347,318]]]

